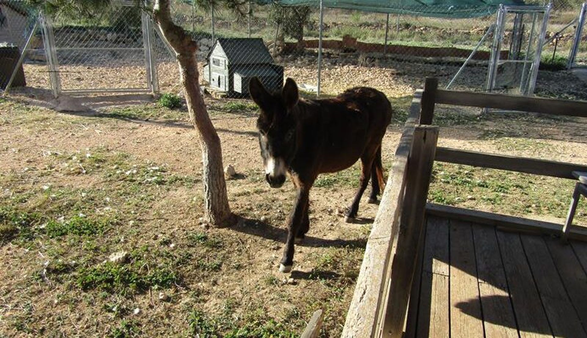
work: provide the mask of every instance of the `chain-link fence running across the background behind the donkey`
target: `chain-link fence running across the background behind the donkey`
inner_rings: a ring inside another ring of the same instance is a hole
[[[214,8],[203,8],[189,0],[174,1],[171,8],[174,21],[198,42],[203,85],[213,92],[245,96],[252,76],[261,77],[273,88],[281,85],[284,77],[291,77],[302,91],[316,92],[319,8],[243,2],[239,8],[228,9],[218,2],[210,3]],[[0,83],[6,83],[14,71],[14,60],[18,61],[39,22],[39,11],[15,0],[0,1],[0,9],[5,16],[0,42],[9,43],[5,53],[12,55],[0,56],[13,62],[2,62]],[[552,4],[541,68],[566,68],[575,34],[573,21],[577,21],[580,10],[581,3],[572,0]],[[324,8],[321,93],[336,95],[352,86],[372,86],[387,95],[407,97],[427,76],[436,76],[441,86],[450,83],[452,89],[485,91],[496,16],[479,12],[473,18],[428,18]],[[64,92],[181,92],[173,53],[140,8],[119,4],[92,19],[66,15],[46,19],[53,36],[38,26],[24,56],[22,78],[28,88],[50,89],[58,75],[59,91]],[[514,24],[513,19],[508,20],[501,46],[504,57],[510,53],[509,27]],[[6,22],[15,27],[10,34]],[[52,49],[45,48],[50,38]],[[583,29],[573,64],[585,64],[586,39]],[[52,58],[53,62],[48,62]],[[517,75],[512,72],[511,76]],[[587,99],[584,83],[569,76],[564,70],[541,71],[536,92]],[[501,79],[508,81],[507,76]],[[15,82],[13,86],[18,85]]]

